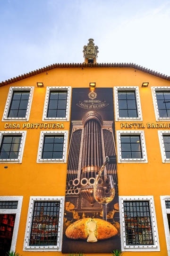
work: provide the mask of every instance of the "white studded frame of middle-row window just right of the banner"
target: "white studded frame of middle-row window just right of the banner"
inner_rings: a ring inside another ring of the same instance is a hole
[[[136,130],[118,130],[116,132],[117,135],[117,152],[118,152],[118,163],[148,163],[147,160],[147,152],[146,152],[146,144],[145,144],[145,138],[144,138],[144,130],[136,131]],[[122,158],[121,155],[121,135],[140,135],[141,139],[141,146],[142,146],[142,155],[143,158]]]

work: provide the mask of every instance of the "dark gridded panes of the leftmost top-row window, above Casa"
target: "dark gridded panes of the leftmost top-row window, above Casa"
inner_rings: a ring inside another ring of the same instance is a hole
[[[13,91],[8,118],[26,118],[30,91]]]

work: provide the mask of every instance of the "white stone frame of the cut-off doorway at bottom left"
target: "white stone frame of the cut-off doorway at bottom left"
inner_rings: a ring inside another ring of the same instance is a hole
[[[0,209],[0,214],[16,214],[10,251],[16,250],[23,196],[0,196],[0,201],[18,201],[17,209]]]

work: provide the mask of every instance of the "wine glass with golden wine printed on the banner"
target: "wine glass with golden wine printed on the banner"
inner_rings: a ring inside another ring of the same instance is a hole
[[[97,175],[93,187],[94,199],[103,206],[103,219],[107,221],[106,206],[115,196],[112,175]]]

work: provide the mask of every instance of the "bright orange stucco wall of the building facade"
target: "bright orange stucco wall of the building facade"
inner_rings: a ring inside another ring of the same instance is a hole
[[[43,82],[44,87],[37,88],[36,82]],[[168,81],[133,68],[53,69],[48,71],[48,74],[46,72],[40,73],[28,79],[0,87],[0,130],[16,130],[13,128],[5,129],[5,123],[10,122],[1,122],[10,86],[35,87],[29,123],[43,123],[42,112],[47,86],[89,87],[89,82],[96,82],[96,87],[139,86],[144,124],[156,122],[150,87],[170,86]],[[149,87],[142,88],[142,82],[149,82]],[[22,124],[23,122],[16,123]],[[48,123],[50,122],[48,121]],[[115,128],[120,130],[120,122],[115,122]],[[20,128],[20,130],[23,129]],[[27,135],[22,164],[0,164],[0,195],[24,196],[17,237],[16,248],[18,252],[23,256],[61,255],[59,252],[23,252],[30,196],[65,196],[67,173],[67,164],[36,163],[40,131],[42,129],[30,128],[26,130]],[[64,122],[64,130],[69,131],[69,122]],[[161,252],[125,252],[125,256],[167,256],[160,195],[170,195],[170,164],[162,164],[157,130],[156,128],[144,128],[148,163],[118,164],[118,179],[120,196],[154,196]],[[8,166],[8,169],[4,169],[5,165]],[[109,254],[106,255],[109,256]]]

